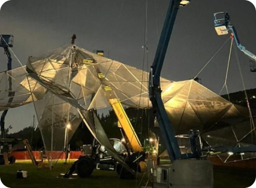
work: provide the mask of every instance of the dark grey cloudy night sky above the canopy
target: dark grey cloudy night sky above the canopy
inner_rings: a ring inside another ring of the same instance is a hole
[[[110,58],[142,69],[146,0],[9,0],[0,8],[0,34],[13,34],[12,48],[26,64],[28,56],[70,44],[92,51],[104,50]],[[168,0],[148,0],[147,39],[149,66],[152,64],[158,37],[168,7]],[[180,8],[165,57],[162,77],[179,81],[200,71],[228,35],[219,37],[213,27],[213,13],[228,11],[240,42],[256,53],[256,9],[247,0],[192,0]],[[0,71],[7,69],[7,57],[0,49]],[[230,43],[221,50],[198,76],[202,84],[219,93],[225,80]],[[237,50],[234,48],[234,50]],[[249,71],[249,60],[238,51],[247,89],[255,88],[256,72]],[[20,66],[13,57],[13,68]],[[242,90],[234,53],[231,57],[227,86],[229,92]],[[222,93],[225,94],[225,93]],[[11,132],[30,126],[33,105],[9,110],[6,126]]]

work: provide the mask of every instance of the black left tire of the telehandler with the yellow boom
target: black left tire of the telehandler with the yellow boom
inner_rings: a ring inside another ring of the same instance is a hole
[[[89,177],[94,171],[94,160],[90,157],[83,157],[76,163],[76,172],[80,178]]]

